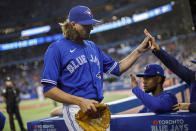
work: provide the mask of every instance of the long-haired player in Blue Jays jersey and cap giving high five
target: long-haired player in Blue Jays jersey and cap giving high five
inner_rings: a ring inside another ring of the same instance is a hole
[[[146,37],[130,55],[116,62],[88,40],[96,23],[99,21],[93,19],[88,7],[73,7],[68,21],[61,24],[65,38],[52,43],[44,56],[44,95],[63,103],[63,116],[70,131],[82,130],[75,122],[80,109],[84,113],[96,112],[94,104],[103,100],[103,73],[121,75],[149,48]]]

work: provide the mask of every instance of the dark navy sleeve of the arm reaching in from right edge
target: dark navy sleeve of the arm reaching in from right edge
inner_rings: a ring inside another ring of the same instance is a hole
[[[173,56],[168,54],[163,49],[159,51],[153,51],[154,55],[158,57],[163,64],[169,68],[172,72],[178,75],[182,80],[190,85],[191,98],[190,101],[196,102],[196,81],[195,71],[188,69],[187,67],[180,64]]]

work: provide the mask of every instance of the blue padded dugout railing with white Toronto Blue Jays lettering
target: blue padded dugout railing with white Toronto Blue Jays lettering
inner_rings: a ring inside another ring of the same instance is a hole
[[[165,88],[174,94],[181,93],[189,86],[179,84]],[[185,98],[182,98],[185,100]],[[141,102],[134,96],[107,103],[112,112],[111,131],[195,131],[196,113],[173,112],[165,114],[140,113],[123,114],[116,113],[128,110],[141,105]],[[48,117],[41,120],[27,123],[29,131],[68,131],[63,116]]]

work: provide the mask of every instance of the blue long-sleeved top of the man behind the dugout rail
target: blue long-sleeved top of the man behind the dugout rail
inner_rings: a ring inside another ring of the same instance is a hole
[[[173,106],[177,104],[176,96],[169,92],[163,92],[157,96],[151,96],[142,91],[138,86],[133,88],[132,91],[144,104],[144,108],[141,109],[139,113],[165,113],[172,111]]]

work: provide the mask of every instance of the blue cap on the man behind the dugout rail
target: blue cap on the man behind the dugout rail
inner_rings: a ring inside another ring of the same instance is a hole
[[[164,70],[163,68],[158,64],[148,64],[144,68],[143,73],[139,73],[136,75],[137,77],[143,77],[143,76],[164,76]]]

